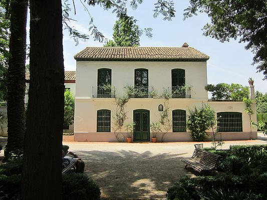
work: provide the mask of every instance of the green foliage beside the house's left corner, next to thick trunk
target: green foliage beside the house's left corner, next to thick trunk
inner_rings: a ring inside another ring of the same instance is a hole
[[[64,124],[72,125],[74,122],[74,97],[69,89],[64,93]]]

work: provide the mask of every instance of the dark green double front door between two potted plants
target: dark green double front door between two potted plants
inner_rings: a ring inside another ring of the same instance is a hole
[[[149,110],[134,110],[134,141],[150,141],[149,132]]]

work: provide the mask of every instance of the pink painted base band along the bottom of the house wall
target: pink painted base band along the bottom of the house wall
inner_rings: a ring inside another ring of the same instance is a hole
[[[125,138],[127,133],[123,133]],[[161,135],[157,135],[157,141],[161,142]],[[212,132],[208,132],[209,137],[206,137],[205,141],[212,140]],[[252,139],[257,139],[257,132],[252,132]],[[250,138],[250,132],[222,132],[222,140],[248,140]],[[217,135],[217,139],[220,139],[220,134]],[[151,140],[151,139],[150,139]],[[114,132],[75,132],[74,141],[106,141],[106,142],[118,142]],[[189,132],[168,132],[164,135],[164,141],[193,141]]]

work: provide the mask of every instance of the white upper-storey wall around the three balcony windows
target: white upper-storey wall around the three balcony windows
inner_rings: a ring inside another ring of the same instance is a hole
[[[192,85],[192,98],[207,98],[204,86],[207,84],[206,62],[144,62],[144,61],[77,61],[76,97],[92,97],[92,86],[97,86],[97,70],[111,68],[111,84],[116,88],[117,96],[124,94],[124,86],[134,85],[134,69],[148,69],[148,84],[159,94],[163,87],[171,87],[171,69],[185,69],[185,81]]]

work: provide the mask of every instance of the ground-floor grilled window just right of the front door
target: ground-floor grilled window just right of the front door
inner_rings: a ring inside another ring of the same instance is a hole
[[[172,131],[186,132],[186,113],[185,110],[172,110]]]

